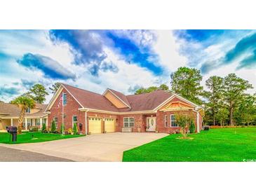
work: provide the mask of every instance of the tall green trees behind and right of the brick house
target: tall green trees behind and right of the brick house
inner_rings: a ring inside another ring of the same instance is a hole
[[[201,85],[203,76],[200,70],[180,67],[170,75],[170,88],[140,88],[135,94],[154,90],[167,90],[201,105],[205,110],[205,125],[256,125],[256,94],[248,94],[252,84],[236,74],[227,76],[210,76],[204,90]]]

